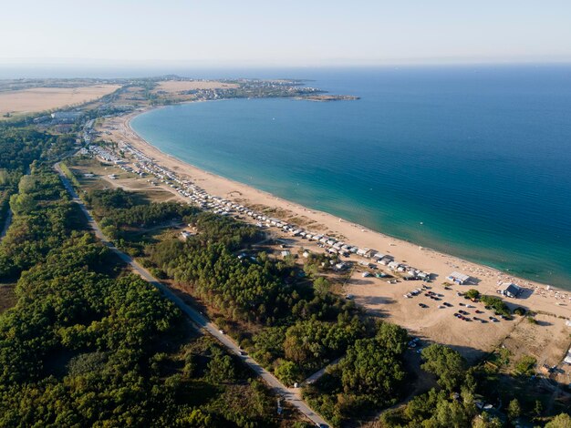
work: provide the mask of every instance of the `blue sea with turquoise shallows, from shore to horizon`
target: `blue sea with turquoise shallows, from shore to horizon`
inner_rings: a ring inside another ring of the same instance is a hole
[[[273,76],[362,98],[195,103],[131,126],[224,177],[571,289],[571,66],[303,73]]]

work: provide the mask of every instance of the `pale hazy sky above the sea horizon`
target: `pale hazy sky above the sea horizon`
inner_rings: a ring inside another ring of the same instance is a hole
[[[17,0],[0,64],[571,60],[571,0]]]

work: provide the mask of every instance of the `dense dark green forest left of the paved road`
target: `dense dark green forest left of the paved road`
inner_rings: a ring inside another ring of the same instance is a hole
[[[10,206],[0,278],[16,281],[16,305],[0,315],[0,426],[296,424],[88,233],[51,168],[34,164]]]

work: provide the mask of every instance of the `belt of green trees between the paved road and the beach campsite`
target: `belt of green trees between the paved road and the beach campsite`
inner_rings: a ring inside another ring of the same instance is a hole
[[[121,189],[88,192],[85,199],[98,219],[117,225],[117,237],[124,237],[135,223],[146,226],[138,217],[126,220],[133,213],[156,209]],[[314,287],[293,263],[252,253],[249,248],[262,239],[254,227],[182,204],[159,205],[170,207],[167,218],[178,215],[195,234],[186,240],[150,241],[139,254],[143,264],[210,308],[215,321],[257,362],[292,386],[347,354],[339,365],[342,372],[328,373],[335,381],[319,382],[304,392],[336,425],[359,411],[397,403],[407,375],[402,362],[406,331],[373,321],[352,301]],[[236,257],[243,251],[254,255]],[[317,276],[315,282],[324,280]],[[375,379],[362,382],[370,371],[377,371]]]

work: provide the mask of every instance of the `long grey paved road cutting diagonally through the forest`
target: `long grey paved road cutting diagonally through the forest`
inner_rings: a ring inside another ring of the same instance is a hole
[[[125,254],[123,251],[119,250],[109,241],[109,239],[105,237],[105,235],[103,234],[101,229],[99,229],[99,226],[89,213],[83,201],[79,199],[78,194],[71,186],[71,183],[67,179],[66,175],[63,173],[61,168],[59,168],[59,163],[55,165],[55,168],[57,170],[57,173],[59,174],[59,178],[61,178],[64,187],[67,189],[67,192],[69,193],[69,195],[71,195],[73,201],[79,205],[79,207],[87,217],[89,227],[93,229],[93,231],[95,232],[95,236],[99,240],[101,240],[101,242],[104,245],[109,247],[110,250],[115,252],[121,260],[129,264],[131,269],[137,272],[143,280],[147,280],[157,289],[161,290],[162,294],[167,299],[176,304],[179,307],[179,309],[191,319],[192,322],[194,322],[197,326],[212,334],[216,339],[218,339],[218,341],[221,341],[223,345],[226,348],[228,348],[231,352],[234,352],[236,355],[240,355],[240,348],[238,347],[238,345],[231,338],[221,333],[218,327],[216,327],[216,325],[213,324],[213,322],[208,321],[206,318],[204,318],[199,311],[192,309],[192,307],[190,307],[188,304],[182,301],[182,299],[179,296],[177,296],[174,292],[172,292],[168,287],[162,284],[159,280],[156,280],[151,275],[151,273],[145,268],[143,268],[136,260],[133,260],[128,254]],[[272,373],[266,371],[260,364],[255,362],[249,356],[247,355],[241,356],[241,358],[256,374],[258,374],[262,379],[264,379],[264,381],[270,387],[272,387],[276,393],[284,397],[284,399],[287,402],[293,404],[299,412],[304,413],[311,421],[313,421],[317,425],[323,424],[324,426],[328,426],[325,419],[323,419],[321,416],[319,416],[317,413],[311,410],[309,406],[307,406],[307,404],[301,399],[298,390],[287,388],[282,382],[279,382]]]

